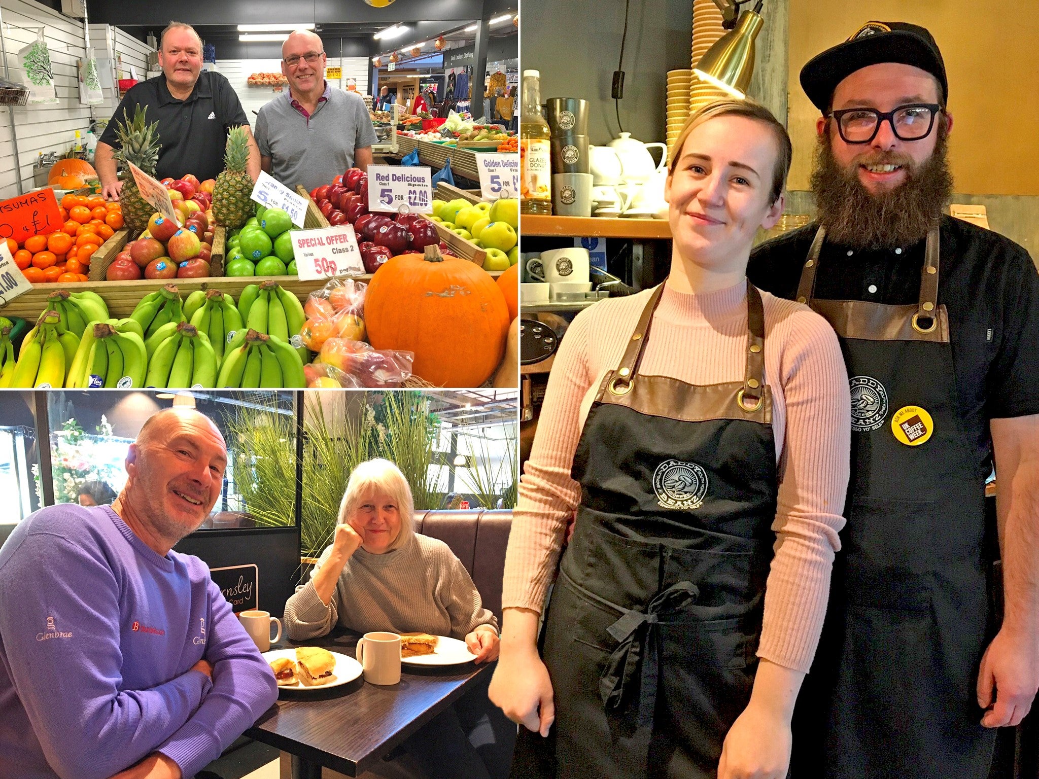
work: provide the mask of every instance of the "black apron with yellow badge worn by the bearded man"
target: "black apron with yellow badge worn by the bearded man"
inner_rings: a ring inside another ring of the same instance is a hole
[[[797,779],[986,779],[994,731],[975,686],[989,628],[983,481],[959,413],[938,229],[920,302],[798,300],[841,339],[852,395],[842,553],[794,718]],[[822,744],[820,743],[822,741]]]

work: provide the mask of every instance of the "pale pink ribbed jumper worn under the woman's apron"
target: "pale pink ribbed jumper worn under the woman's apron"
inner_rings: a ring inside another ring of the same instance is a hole
[[[581,501],[570,465],[595,390],[620,361],[650,291],[579,314],[556,354],[505,559],[503,608],[540,612],[555,581],[567,519]],[[836,335],[807,306],[762,293],[765,376],[772,387],[778,501],[775,556],[757,654],[800,671],[811,665],[844,527],[851,413]],[[703,295],[667,288],[639,372],[690,384],[741,381],[746,281]]]

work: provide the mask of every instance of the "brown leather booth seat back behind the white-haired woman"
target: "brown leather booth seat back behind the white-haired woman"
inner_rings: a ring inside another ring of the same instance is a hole
[[[512,511],[417,511],[415,530],[444,541],[473,577],[483,606],[502,619],[502,576]]]

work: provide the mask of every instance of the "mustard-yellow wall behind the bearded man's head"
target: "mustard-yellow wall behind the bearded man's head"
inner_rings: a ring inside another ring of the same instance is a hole
[[[950,159],[955,190],[1039,195],[1039,14],[1032,7],[1034,0],[789,2],[791,189],[808,188],[819,117],[819,110],[801,89],[801,68],[865,22],[876,20],[922,25],[938,43],[954,117]]]

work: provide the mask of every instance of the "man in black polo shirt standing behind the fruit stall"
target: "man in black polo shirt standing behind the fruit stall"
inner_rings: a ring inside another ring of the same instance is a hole
[[[202,70],[202,38],[190,25],[170,22],[159,41],[162,75],[134,85],[112,115],[98,140],[95,166],[102,194],[118,196],[123,184],[115,178],[112,149],[121,147],[115,135],[123,111],[132,119],[138,105],[148,106],[145,119],[159,123],[159,164],[156,178],[180,179],[193,173],[199,181],[215,179],[223,169],[228,130],[241,126],[249,136],[246,169],[254,181],[260,174],[260,152],[242,104],[228,79]]]

